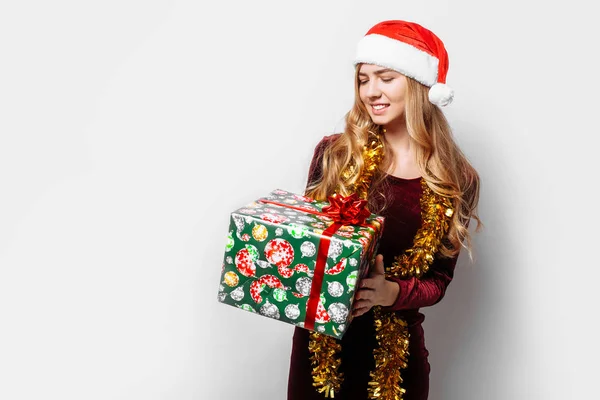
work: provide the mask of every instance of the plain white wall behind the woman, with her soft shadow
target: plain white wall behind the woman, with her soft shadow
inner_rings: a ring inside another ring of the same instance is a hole
[[[0,398],[285,399],[292,326],[216,300],[229,212],[303,190],[384,19],[445,42],[482,179],[476,262],[423,310],[430,399],[598,398],[584,4],[3,1]]]

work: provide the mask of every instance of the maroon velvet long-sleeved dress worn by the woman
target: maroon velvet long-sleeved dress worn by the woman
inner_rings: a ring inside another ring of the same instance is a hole
[[[326,146],[339,137],[339,134],[325,136],[315,148],[310,165],[308,182],[321,177],[321,157]],[[403,179],[392,175],[385,178],[387,208],[381,213],[385,217],[379,254],[384,264],[393,262],[394,257],[412,247],[413,238],[421,227],[422,194],[420,178]],[[424,315],[420,307],[432,306],[439,302],[454,274],[455,258],[436,258],[420,280],[409,278],[393,279],[400,286],[398,298],[388,310],[396,312],[409,326],[408,367],[401,370],[406,389],[405,400],[425,400],[429,393],[429,352],[425,348],[421,323]],[[292,355],[288,381],[288,400],[322,400],[324,395],[313,386],[308,351],[309,331],[296,328],[293,337]],[[340,400],[368,400],[367,383],[369,372],[374,368],[373,349],[377,346],[373,327],[373,312],[354,318],[341,339],[342,351],[340,370],[344,380],[335,398]]]

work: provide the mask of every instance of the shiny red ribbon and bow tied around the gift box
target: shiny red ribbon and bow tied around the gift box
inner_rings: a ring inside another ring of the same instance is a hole
[[[304,207],[297,207],[290,204],[278,203],[271,200],[260,199],[262,203],[275,204],[282,207],[292,208],[294,210],[304,211],[310,214],[328,216],[334,220],[327,229],[323,231],[319,240],[319,250],[317,252],[317,260],[315,271],[313,274],[312,284],[310,287],[310,295],[306,302],[306,318],[304,320],[304,328],[314,330],[315,319],[317,317],[317,308],[321,299],[321,290],[323,287],[323,277],[325,276],[325,266],[327,265],[327,256],[329,254],[329,245],[331,237],[343,225],[365,225],[366,219],[371,212],[367,209],[367,201],[358,198],[356,193],[350,196],[341,196],[334,193],[328,197],[329,205],[323,207],[323,212],[311,210]]]

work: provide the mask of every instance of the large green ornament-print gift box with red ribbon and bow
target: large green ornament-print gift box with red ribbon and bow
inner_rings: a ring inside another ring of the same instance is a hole
[[[341,338],[383,230],[365,205],[277,189],[232,212],[218,300]]]

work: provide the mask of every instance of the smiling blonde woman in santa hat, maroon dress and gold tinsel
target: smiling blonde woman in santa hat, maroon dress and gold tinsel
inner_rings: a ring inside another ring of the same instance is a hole
[[[453,91],[435,34],[411,22],[381,22],[359,42],[355,65],[346,128],[316,146],[306,195],[366,198],[385,217],[380,255],[361,281],[342,340],[296,328],[288,400],[427,399],[419,308],[444,297],[461,247],[471,254],[479,176],[440,109]]]

